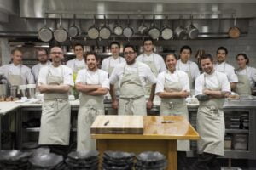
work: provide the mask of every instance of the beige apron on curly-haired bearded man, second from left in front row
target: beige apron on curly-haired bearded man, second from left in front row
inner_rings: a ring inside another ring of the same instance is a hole
[[[98,74],[98,84],[100,76]],[[78,116],[78,146],[77,150],[96,150],[96,140],[90,137],[90,126],[96,116],[104,115],[104,96],[93,96],[81,93],[79,95],[80,107]]]

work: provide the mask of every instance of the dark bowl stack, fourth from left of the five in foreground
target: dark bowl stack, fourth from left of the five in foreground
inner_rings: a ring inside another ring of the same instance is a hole
[[[134,154],[120,151],[105,151],[102,161],[102,170],[131,170]]]

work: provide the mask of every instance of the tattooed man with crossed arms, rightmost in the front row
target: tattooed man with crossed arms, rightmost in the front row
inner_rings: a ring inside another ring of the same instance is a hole
[[[204,73],[195,80],[195,95],[200,100],[196,120],[197,132],[201,136],[197,142],[200,155],[192,169],[220,170],[216,157],[224,156],[223,105],[224,98],[230,94],[230,82],[224,73],[214,70],[210,54],[201,55],[201,68]]]

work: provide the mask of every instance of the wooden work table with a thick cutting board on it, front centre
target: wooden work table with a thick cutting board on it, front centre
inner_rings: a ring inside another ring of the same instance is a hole
[[[95,134],[97,150],[121,150],[139,154],[159,151],[166,155],[168,170],[177,169],[177,139],[199,139],[199,134],[183,116],[143,116],[142,134]]]

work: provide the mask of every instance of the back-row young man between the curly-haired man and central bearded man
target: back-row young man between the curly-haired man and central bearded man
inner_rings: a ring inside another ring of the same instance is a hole
[[[111,76],[111,74],[113,72],[113,68],[116,65],[125,62],[125,59],[123,57],[119,56],[119,50],[120,50],[119,42],[111,42],[110,51],[111,51],[112,55],[106,59],[103,59],[103,61],[102,61],[102,70],[107,71],[109,77]],[[114,88],[115,88],[115,93],[117,95],[119,95],[120,94],[119,82],[115,83]]]

